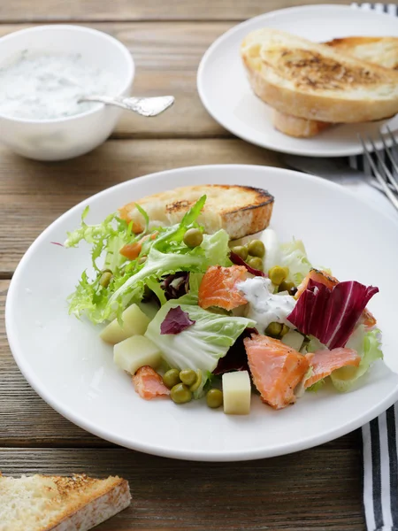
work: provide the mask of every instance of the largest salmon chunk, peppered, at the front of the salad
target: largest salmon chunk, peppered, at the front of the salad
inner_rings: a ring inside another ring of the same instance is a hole
[[[263,401],[274,409],[295,403],[295,388],[309,368],[309,360],[279,339],[252,335],[243,340],[249,369]]]

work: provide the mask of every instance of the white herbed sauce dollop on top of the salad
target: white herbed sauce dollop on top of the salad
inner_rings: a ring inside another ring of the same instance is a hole
[[[237,288],[244,294],[249,303],[247,317],[257,323],[260,334],[271,323],[281,323],[294,328],[287,320],[295,307],[295,299],[290,295],[273,294],[270,291],[272,281],[264,277],[254,277],[240,282]]]

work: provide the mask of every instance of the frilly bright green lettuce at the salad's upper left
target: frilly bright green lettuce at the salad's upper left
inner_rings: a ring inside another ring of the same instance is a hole
[[[82,273],[74,293],[68,297],[70,313],[77,317],[85,314],[95,324],[115,317],[121,319],[126,306],[142,300],[145,285],[153,289],[161,303],[165,304],[159,281],[167,274],[179,271],[205,273],[209,266],[230,266],[229,236],[226,231],[219,230],[214,235],[203,235],[202,244],[194,249],[183,242],[188,228],[203,230],[203,227],[196,223],[196,219],[205,200],[206,196],[201,197],[185,214],[180,224],[157,227],[148,234],[149,237],[142,242],[140,257],[147,257],[143,264],[140,264],[138,259],[127,260],[119,253],[126,243],[141,240],[142,235],[134,235],[131,226],[116,214],[108,216],[103,223],[89,226],[85,222],[88,213],[86,209],[83,212],[81,227],[68,234],[65,246],[75,247],[81,241],[91,244],[95,276],[90,278],[87,271]],[[144,214],[145,212],[142,212],[148,230],[149,223]],[[150,236],[155,234],[157,237],[152,239]],[[103,260],[101,267],[97,264],[99,259]],[[111,282],[107,287],[100,284],[101,270],[104,268],[109,268],[112,272]],[[199,278],[196,281],[199,282]],[[195,289],[198,289],[198,283]]]

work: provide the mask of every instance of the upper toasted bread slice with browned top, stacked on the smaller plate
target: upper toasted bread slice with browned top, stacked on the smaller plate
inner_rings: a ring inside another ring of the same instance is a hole
[[[264,28],[241,44],[256,96],[279,112],[356,123],[398,112],[398,72],[286,32]]]

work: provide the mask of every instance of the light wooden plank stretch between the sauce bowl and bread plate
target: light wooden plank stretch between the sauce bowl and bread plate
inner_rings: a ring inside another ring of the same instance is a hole
[[[172,109],[155,119],[124,112],[113,136],[231,136],[204,109],[196,90],[196,71],[211,42],[232,26],[232,23],[224,22],[90,24],[90,27],[119,39],[132,53],[136,64],[134,95],[172,94],[176,98]],[[24,27],[29,25],[0,25],[0,36]]]

